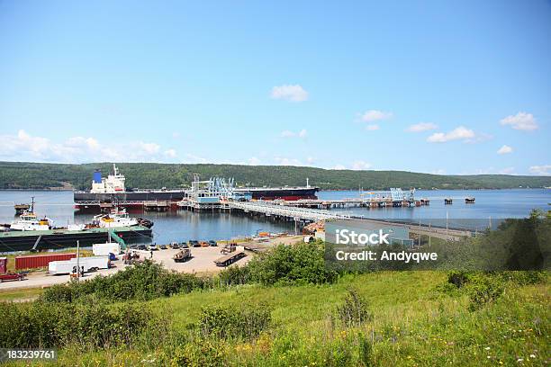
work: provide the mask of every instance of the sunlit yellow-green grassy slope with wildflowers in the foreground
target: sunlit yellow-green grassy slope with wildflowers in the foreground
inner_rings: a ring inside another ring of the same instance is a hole
[[[510,286],[495,302],[470,311],[460,292],[439,291],[440,272],[348,275],[326,285],[263,287],[189,294],[142,302],[171,320],[173,339],[190,348],[101,352],[62,350],[61,365],[547,365],[548,282]],[[356,327],[335,321],[348,290],[368,302],[373,318]],[[250,340],[197,339],[190,330],[203,308],[270,310],[271,324]],[[140,303],[132,305],[140,311]],[[172,340],[171,343],[174,343]],[[366,343],[367,342],[367,343]],[[179,356],[194,355],[195,359]]]

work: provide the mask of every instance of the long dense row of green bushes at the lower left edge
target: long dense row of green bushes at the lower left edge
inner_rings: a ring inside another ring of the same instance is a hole
[[[41,301],[0,303],[0,319],[9,320],[0,324],[0,345],[18,348],[131,345],[146,328],[164,325],[142,305],[107,305],[101,301],[60,302],[55,307]]]

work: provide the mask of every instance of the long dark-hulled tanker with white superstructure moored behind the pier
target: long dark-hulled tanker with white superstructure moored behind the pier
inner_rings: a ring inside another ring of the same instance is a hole
[[[95,170],[90,191],[74,192],[75,207],[77,210],[111,210],[113,207],[143,208],[148,202],[163,201],[176,209],[177,202],[186,197],[190,190],[159,189],[159,190],[127,190],[126,178],[119,173],[113,164],[113,173],[102,177],[99,170]],[[255,200],[287,200],[316,199],[319,187],[311,186],[306,179],[306,186],[284,187],[236,187],[233,192],[242,197]]]

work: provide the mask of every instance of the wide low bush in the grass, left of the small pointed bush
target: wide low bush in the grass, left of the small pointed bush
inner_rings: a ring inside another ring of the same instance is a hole
[[[270,310],[263,306],[242,309],[203,309],[198,328],[202,336],[217,339],[253,339],[271,322]]]

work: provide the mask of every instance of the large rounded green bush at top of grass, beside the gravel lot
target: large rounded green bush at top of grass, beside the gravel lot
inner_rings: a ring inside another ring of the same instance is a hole
[[[322,243],[279,245],[253,258],[248,267],[251,279],[263,285],[321,284],[338,276],[325,265]]]

